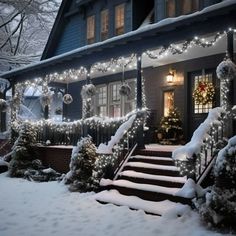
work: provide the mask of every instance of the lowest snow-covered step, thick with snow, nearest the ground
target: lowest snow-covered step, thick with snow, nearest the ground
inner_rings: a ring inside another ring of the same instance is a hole
[[[143,210],[149,214],[163,215],[171,210],[177,210],[179,212],[185,212],[189,208],[187,205],[181,203],[171,202],[164,200],[160,202],[143,200],[136,196],[126,196],[120,194],[117,190],[102,191],[96,194],[95,199],[102,203],[113,203],[118,206],[128,206],[134,210]],[[180,210],[181,208],[181,210]]]

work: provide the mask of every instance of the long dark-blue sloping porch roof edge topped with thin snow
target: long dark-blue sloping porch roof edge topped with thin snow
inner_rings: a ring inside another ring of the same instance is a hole
[[[78,68],[86,66],[86,63],[122,56],[122,53],[129,55],[132,52],[142,52],[145,49],[168,45],[177,40],[193,38],[195,34],[225,30],[226,27],[236,28],[236,0],[223,1],[190,15],[167,18],[124,35],[7,72],[1,77],[7,79],[22,77],[23,79],[27,76],[44,76],[48,72],[56,72],[55,66],[59,72],[68,68]]]

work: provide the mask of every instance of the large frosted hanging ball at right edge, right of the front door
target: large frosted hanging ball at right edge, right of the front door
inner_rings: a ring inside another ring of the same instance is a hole
[[[232,80],[236,77],[236,66],[229,58],[227,58],[227,55],[224,61],[217,66],[216,74],[221,80]]]

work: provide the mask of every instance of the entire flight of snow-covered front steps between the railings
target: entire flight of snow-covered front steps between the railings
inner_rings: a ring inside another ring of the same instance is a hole
[[[106,192],[98,195],[98,200],[162,215],[161,204],[166,202],[169,205],[191,204],[192,196],[183,195],[186,181],[180,176],[170,152],[144,150],[124,162],[116,179],[101,181],[100,185]],[[134,199],[139,199],[147,208],[141,207],[141,203],[136,205]],[[150,211],[153,202],[157,204],[153,207],[155,210]]]

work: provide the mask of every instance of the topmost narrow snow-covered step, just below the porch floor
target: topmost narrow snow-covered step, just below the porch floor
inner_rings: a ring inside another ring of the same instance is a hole
[[[135,155],[129,158],[130,162],[145,162],[150,164],[174,165],[173,159],[168,157]]]

